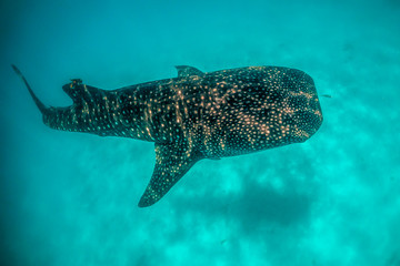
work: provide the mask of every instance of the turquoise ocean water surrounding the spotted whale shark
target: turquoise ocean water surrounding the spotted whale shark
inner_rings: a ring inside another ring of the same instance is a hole
[[[0,2],[0,265],[400,265],[400,2]],[[153,144],[46,127],[70,78],[114,89],[203,71],[309,73],[303,144],[201,161],[137,203]]]

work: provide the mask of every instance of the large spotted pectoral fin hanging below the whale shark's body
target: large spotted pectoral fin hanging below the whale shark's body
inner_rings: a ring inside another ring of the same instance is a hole
[[[156,166],[150,183],[139,202],[139,207],[148,207],[158,202],[167,192],[202,157],[188,142],[156,143]]]

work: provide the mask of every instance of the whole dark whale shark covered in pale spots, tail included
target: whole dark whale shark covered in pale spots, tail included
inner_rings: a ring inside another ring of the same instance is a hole
[[[158,202],[199,160],[304,142],[322,123],[314,83],[296,69],[203,73],[179,65],[178,78],[112,91],[74,79],[63,85],[73,104],[46,108],[13,68],[48,126],[156,143],[156,167],[140,207]]]

